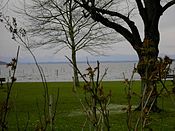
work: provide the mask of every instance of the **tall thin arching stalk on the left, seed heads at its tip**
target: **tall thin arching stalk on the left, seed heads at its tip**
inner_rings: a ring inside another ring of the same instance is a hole
[[[44,74],[42,67],[38,64],[34,53],[30,49],[30,42],[29,42],[29,39],[27,37],[27,33],[26,33],[25,29],[19,28],[17,26],[18,24],[17,24],[16,18],[14,18],[14,17],[12,17],[12,20],[10,19],[9,16],[6,17],[6,16],[1,15],[0,17],[1,17],[1,22],[3,22],[5,24],[6,28],[12,34],[12,39],[15,40],[17,43],[19,43],[20,45],[22,45],[23,47],[25,47],[30,52],[31,56],[34,59],[35,65],[39,71],[39,74],[40,74],[40,77],[42,80],[42,84],[43,84],[43,89],[44,89],[44,105],[43,105],[43,109],[42,109],[43,114],[38,113],[39,118],[40,118],[40,123],[38,124],[39,125],[38,130],[45,131],[48,129],[48,125],[50,124],[50,129],[53,131],[54,130],[54,120],[55,120],[56,110],[57,110],[57,105],[58,105],[59,89],[58,89],[58,93],[56,96],[56,101],[52,102],[52,105],[50,105],[50,101],[51,101],[50,98],[51,97],[49,95],[46,77],[45,77],[45,74]],[[50,106],[52,106],[52,108]],[[38,107],[38,110],[40,110],[39,107]],[[51,114],[51,112],[52,112],[52,114]],[[29,113],[28,113],[28,118],[29,118]],[[27,122],[26,126],[28,126],[28,122]],[[27,128],[27,127],[25,127],[25,128]],[[36,128],[38,128],[38,126]]]

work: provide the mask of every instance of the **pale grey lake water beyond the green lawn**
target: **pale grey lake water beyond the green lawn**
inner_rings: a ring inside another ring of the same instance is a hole
[[[137,62],[104,62],[100,63],[100,75],[102,76],[107,70],[107,74],[104,77],[104,81],[116,81],[123,80],[123,73],[126,78],[130,78],[134,65]],[[90,63],[91,67],[96,67],[96,63]],[[40,64],[42,67],[46,80],[48,82],[59,81],[72,81],[73,71],[69,63],[57,63],[57,64]],[[175,62],[172,64],[174,69]],[[87,73],[86,69],[88,65],[86,63],[78,63],[78,68],[82,74]],[[0,65],[0,77],[8,78],[10,74],[9,68],[6,65]],[[18,64],[16,71],[17,82],[40,82],[41,77],[35,64]],[[139,75],[135,74],[134,79],[139,79]],[[81,78],[80,78],[81,80]]]

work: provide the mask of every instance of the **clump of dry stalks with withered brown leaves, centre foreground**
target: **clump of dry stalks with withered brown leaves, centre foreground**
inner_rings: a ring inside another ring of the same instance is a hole
[[[72,61],[67,57],[72,63]],[[102,80],[106,75],[105,73],[100,78],[100,63],[97,61],[97,66],[92,68],[89,63],[87,73],[82,74],[77,68],[78,73],[84,80],[83,91],[84,100],[80,99],[80,103],[83,107],[83,111],[86,115],[86,121],[82,127],[85,127],[87,121],[90,123],[89,130],[94,131],[110,131],[109,122],[109,103],[111,99],[111,91],[105,95],[105,91],[102,85]]]

